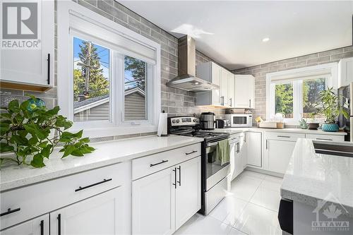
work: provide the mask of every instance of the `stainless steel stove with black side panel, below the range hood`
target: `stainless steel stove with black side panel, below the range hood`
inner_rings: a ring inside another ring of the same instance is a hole
[[[199,119],[194,116],[168,118],[168,133],[203,138],[201,143],[201,210],[208,215],[227,192],[229,162],[220,164],[215,159],[217,143],[229,138],[229,133],[201,131]]]

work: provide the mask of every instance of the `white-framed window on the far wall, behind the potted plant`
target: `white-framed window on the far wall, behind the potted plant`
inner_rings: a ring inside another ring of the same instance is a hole
[[[280,113],[285,122],[297,125],[301,118],[311,118],[317,112],[319,93],[335,88],[337,63],[323,64],[266,75],[266,119]],[[317,121],[323,116],[316,114]]]

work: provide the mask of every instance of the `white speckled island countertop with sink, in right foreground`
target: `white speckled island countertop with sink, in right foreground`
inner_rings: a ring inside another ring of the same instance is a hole
[[[318,143],[327,143],[317,141]],[[330,143],[330,145],[352,143]],[[316,207],[318,200],[340,203],[353,217],[353,157],[316,154],[313,140],[300,138],[281,186],[282,198]]]

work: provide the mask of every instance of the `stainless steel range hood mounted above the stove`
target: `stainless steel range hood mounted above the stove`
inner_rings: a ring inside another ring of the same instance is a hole
[[[178,76],[170,80],[167,86],[193,92],[220,89],[219,85],[196,77],[195,40],[189,35],[179,39]]]

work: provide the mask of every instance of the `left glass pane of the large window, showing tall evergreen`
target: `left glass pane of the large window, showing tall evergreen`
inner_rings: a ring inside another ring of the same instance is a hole
[[[73,37],[74,121],[110,121],[110,50]]]

